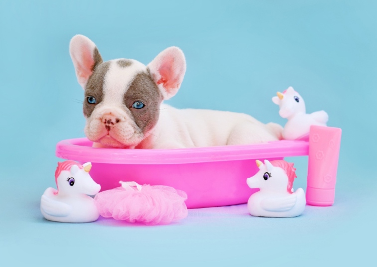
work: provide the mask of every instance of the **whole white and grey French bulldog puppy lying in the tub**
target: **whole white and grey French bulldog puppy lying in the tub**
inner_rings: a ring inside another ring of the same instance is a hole
[[[186,71],[178,47],[165,49],[147,66],[133,59],[104,62],[89,38],[76,35],[70,55],[85,90],[85,134],[95,147],[187,148],[281,139],[280,125],[246,114],[164,104],[177,93]]]

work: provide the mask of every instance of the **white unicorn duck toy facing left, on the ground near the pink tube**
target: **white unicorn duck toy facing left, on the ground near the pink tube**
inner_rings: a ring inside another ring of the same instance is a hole
[[[260,217],[296,217],[305,209],[305,193],[302,188],[293,192],[293,180],[296,178],[293,163],[275,160],[264,164],[256,160],[259,172],[247,178],[250,188],[260,188],[248,200],[248,210],[253,216]]]

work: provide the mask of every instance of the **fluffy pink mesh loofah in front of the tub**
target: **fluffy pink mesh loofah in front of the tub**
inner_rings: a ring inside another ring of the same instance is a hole
[[[145,224],[168,224],[187,217],[185,192],[163,185],[120,183],[121,187],[95,196],[101,216]]]

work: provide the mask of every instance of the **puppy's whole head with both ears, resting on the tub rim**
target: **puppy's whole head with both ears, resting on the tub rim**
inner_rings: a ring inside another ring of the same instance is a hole
[[[103,62],[96,45],[83,35],[70,42],[88,139],[107,147],[135,147],[157,124],[163,100],[173,97],[186,71],[178,47],[162,51],[147,66],[132,59]]]

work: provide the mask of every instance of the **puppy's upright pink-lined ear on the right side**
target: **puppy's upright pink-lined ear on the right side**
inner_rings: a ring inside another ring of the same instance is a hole
[[[148,64],[154,82],[165,100],[173,97],[181,86],[186,72],[186,59],[181,49],[166,48]]]

